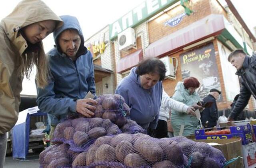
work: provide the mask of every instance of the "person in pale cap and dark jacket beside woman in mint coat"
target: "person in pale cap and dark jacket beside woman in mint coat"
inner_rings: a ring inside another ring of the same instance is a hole
[[[220,94],[221,92],[219,90],[211,89],[210,94],[203,99],[204,102],[213,102],[211,107],[206,107],[201,113],[202,125],[205,128],[212,128],[217,124],[218,107],[216,104],[216,100],[218,99]]]

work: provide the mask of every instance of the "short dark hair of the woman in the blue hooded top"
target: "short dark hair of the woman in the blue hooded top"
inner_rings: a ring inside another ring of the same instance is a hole
[[[160,76],[159,81],[162,81],[165,78],[166,68],[161,60],[149,58],[140,61],[135,72],[140,76],[144,74],[156,73]]]

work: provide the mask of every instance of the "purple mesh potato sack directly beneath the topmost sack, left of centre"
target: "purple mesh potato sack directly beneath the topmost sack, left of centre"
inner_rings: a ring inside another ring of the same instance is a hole
[[[51,141],[67,143],[70,145],[70,150],[84,152],[97,138],[119,133],[122,131],[110,119],[80,117],[59,123]]]

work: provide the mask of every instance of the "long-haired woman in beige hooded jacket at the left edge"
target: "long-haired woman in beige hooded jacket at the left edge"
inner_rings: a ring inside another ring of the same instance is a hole
[[[36,83],[47,85],[48,65],[42,39],[62,20],[40,0],[23,0],[0,23],[0,168],[6,154],[6,132],[18,119],[22,80],[36,65]]]

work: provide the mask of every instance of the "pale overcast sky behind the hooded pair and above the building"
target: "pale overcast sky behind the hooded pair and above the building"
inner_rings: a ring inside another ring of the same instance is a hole
[[[84,39],[106,25],[118,20],[124,14],[144,2],[145,0],[43,0],[57,15],[76,16],[82,27]],[[0,5],[0,20],[10,14],[20,0],[5,0]],[[256,26],[254,19],[255,0],[232,0],[234,6],[242,16],[248,27],[254,33]],[[48,52],[54,44],[52,34],[43,40],[45,51]],[[36,94],[34,82],[25,81],[22,94]]]

